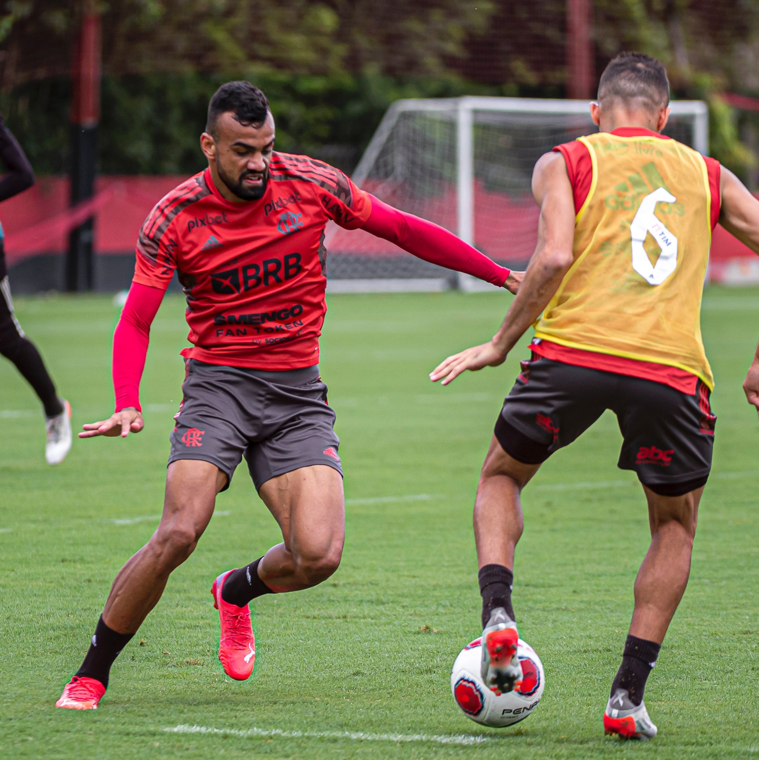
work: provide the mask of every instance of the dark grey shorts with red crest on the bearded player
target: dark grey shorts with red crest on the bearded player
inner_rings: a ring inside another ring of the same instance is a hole
[[[256,490],[277,475],[326,464],[343,468],[334,410],[319,367],[263,372],[186,360],[169,464],[201,459],[226,473],[248,461]]]

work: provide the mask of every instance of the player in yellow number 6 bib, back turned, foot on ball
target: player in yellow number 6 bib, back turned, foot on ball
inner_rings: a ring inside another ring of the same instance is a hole
[[[661,135],[669,81],[656,59],[622,53],[591,103],[600,131],[536,163],[536,252],[492,340],[449,356],[430,375],[503,363],[535,325],[530,361],[504,401],[482,466],[474,530],[482,593],[482,677],[496,692],[521,679],[511,603],[520,492],[543,461],[615,412],[618,467],[643,486],[651,544],[612,682],[606,733],[650,739],[643,701],[691,568],[698,502],[709,477],[712,372],[700,332],[711,231],[719,220],[759,252],[759,201],[713,159]],[[759,350],[744,383],[759,409]]]

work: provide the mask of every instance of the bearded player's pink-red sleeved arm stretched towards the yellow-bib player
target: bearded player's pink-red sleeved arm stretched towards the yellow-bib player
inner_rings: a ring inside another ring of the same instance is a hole
[[[517,292],[523,272],[512,272],[501,267],[438,224],[388,206],[373,195],[370,198],[372,213],[363,223],[362,230],[389,240],[423,261],[471,274],[479,280],[504,287],[511,293]]]

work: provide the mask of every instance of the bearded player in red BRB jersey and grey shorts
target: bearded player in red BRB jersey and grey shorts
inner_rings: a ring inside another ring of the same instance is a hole
[[[166,195],[140,232],[113,337],[115,413],[79,434],[125,437],[143,428],[138,390],[150,323],[176,271],[193,345],[182,351],[163,518],[116,576],[87,657],[56,703],[62,708],[97,707],[112,663],[192,553],[243,456],[283,541],[213,581],[226,673],[243,680],[253,670],[252,599],[315,586],[340,564],[340,441],[318,368],[330,220],[511,292],[521,277],[332,166],[275,152],[267,100],[248,82],[213,96],[201,147],[208,168]]]

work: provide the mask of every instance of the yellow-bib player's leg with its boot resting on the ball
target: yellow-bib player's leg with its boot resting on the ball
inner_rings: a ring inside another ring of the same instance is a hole
[[[510,692],[522,680],[511,584],[514,549],[524,527],[520,492],[539,467],[509,456],[494,435],[477,487],[474,537],[482,592],[482,679],[497,694]]]

